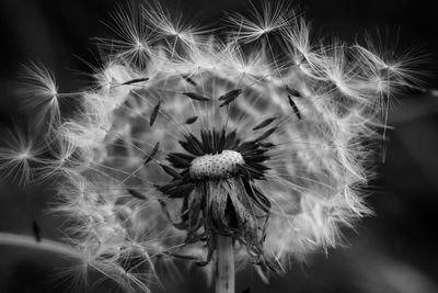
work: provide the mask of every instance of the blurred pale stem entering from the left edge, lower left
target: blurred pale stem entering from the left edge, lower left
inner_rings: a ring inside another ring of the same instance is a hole
[[[48,239],[36,241],[34,237],[12,233],[0,233],[0,245],[21,246],[25,248],[39,249],[57,255],[68,256],[73,259],[81,259],[81,255],[69,246]]]

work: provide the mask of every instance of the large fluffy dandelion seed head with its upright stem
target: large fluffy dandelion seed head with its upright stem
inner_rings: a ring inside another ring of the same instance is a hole
[[[234,292],[234,263],[268,280],[338,245],[341,227],[370,213],[361,194],[385,127],[382,92],[416,82],[408,66],[373,47],[314,44],[284,4],[231,13],[224,37],[158,4],[139,11],[115,14],[122,40],[101,43],[107,63],[77,93],[80,110],[46,117],[55,211],[85,268],[74,277],[95,270],[148,292],[155,268],[184,259],[215,272],[216,292]],[[62,97],[47,70],[32,76],[42,101]],[[0,149],[9,176],[31,177],[25,139]]]

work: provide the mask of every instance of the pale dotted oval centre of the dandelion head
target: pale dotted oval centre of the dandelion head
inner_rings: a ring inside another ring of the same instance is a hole
[[[193,179],[221,179],[233,176],[238,165],[245,161],[243,156],[234,150],[226,149],[216,155],[204,155],[195,158],[189,167]]]

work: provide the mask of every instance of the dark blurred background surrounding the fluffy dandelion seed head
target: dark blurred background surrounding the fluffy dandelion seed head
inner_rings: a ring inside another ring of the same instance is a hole
[[[87,84],[91,72],[80,58],[99,65],[91,38],[112,36],[102,23],[115,0],[0,0],[0,124],[26,117],[10,94],[19,66],[39,60],[56,74],[62,91]],[[170,11],[183,12],[197,23],[217,22],[223,11],[244,12],[246,1],[161,1]],[[403,50],[419,46],[429,55],[423,70],[427,88],[438,88],[438,1],[424,0],[309,0],[295,1],[313,20],[321,35],[360,40],[365,31],[380,27],[399,35]],[[80,58],[79,58],[79,57]],[[401,97],[390,115],[385,164],[371,182],[368,202],[376,216],[362,221],[356,232],[345,230],[348,246],[316,253],[308,264],[291,263],[290,272],[264,284],[252,269],[238,275],[238,291],[293,293],[433,293],[438,292],[438,98],[410,92]],[[2,139],[2,137],[0,137]],[[32,199],[32,200],[30,200]],[[32,211],[42,234],[59,236],[60,219],[44,210],[51,201],[44,189],[22,191],[0,185],[0,230],[32,233]],[[0,292],[64,292],[54,272],[66,266],[56,256],[15,247],[0,247]],[[163,278],[155,292],[209,292],[196,268],[178,281]],[[88,292],[107,292],[94,286]]]

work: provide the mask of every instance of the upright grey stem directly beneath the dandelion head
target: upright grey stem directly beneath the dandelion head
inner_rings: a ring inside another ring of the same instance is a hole
[[[234,250],[232,238],[218,235],[216,293],[234,293]]]

